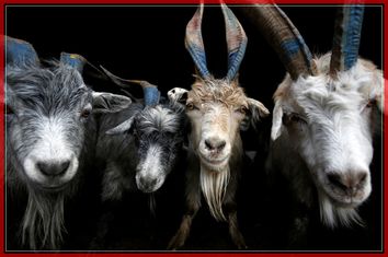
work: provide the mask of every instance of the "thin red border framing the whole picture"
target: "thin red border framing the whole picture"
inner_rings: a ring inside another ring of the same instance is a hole
[[[202,0],[205,3],[219,3],[220,0]],[[346,3],[350,2],[355,2],[357,0],[351,0],[346,1]],[[4,7],[7,4],[197,4],[199,0],[4,0],[0,4],[0,35],[4,34]],[[272,3],[276,2],[279,4],[343,4],[344,0],[224,0],[226,3],[231,3],[231,4],[249,4],[252,2],[255,3]],[[357,1],[358,2],[358,1]],[[387,69],[387,60],[388,60],[388,40],[386,39],[387,36],[387,27],[388,27],[388,19],[385,17],[384,14],[387,13],[387,5],[385,4],[384,0],[364,0],[363,1],[366,4],[383,4],[384,5],[384,13],[383,13],[383,20],[384,20],[384,77],[388,78],[388,69]],[[1,81],[1,86],[0,86],[0,103],[3,103],[4,100],[4,40],[3,37],[1,36],[0,40],[1,49],[0,49],[0,81]],[[388,98],[388,91],[385,91],[385,106],[387,106],[387,98]],[[321,256],[321,257],[332,257],[332,256],[341,256],[341,257],[352,257],[352,256],[388,256],[386,252],[387,247],[387,236],[386,232],[388,229],[387,222],[386,222],[386,217],[384,217],[384,245],[383,245],[383,253],[354,253],[354,254],[341,254],[341,253],[335,253],[335,254],[330,254],[330,253],[285,253],[285,254],[272,254],[272,253],[218,253],[218,254],[201,254],[201,253],[158,253],[158,254],[152,254],[152,253],[147,253],[147,254],[115,254],[115,253],[106,253],[106,254],[100,254],[100,253],[64,253],[64,254],[54,254],[54,253],[38,253],[38,254],[10,254],[10,253],[4,253],[4,233],[3,233],[3,227],[4,227],[4,109],[3,109],[3,104],[1,104],[0,107],[0,145],[3,145],[0,149],[0,256],[64,256],[64,257],[75,257],[75,256],[134,256],[134,257],[148,257],[148,256],[158,256],[158,257],[169,257],[169,256],[190,256],[190,257],[195,257],[195,256],[205,256],[205,257],[218,257],[218,256],[272,256],[272,257],[283,257],[283,256],[300,256],[300,255],[307,255],[307,256]],[[386,113],[386,112],[385,112]],[[387,114],[387,113],[386,113]],[[384,160],[388,156],[388,153],[386,151],[386,145],[388,145],[388,137],[386,135],[386,118],[384,119]],[[384,165],[384,173],[386,171],[386,165]],[[384,185],[388,185],[388,176],[384,175]],[[388,191],[386,190],[385,186],[383,186],[384,190],[384,213],[388,213],[388,205],[386,202],[386,199],[388,198],[387,194]]]

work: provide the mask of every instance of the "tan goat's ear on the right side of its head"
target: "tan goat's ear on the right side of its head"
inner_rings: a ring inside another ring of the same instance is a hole
[[[240,125],[242,131],[247,131],[250,125],[256,130],[256,124],[261,118],[270,115],[270,110],[256,100],[248,98],[248,106],[251,114],[242,120]]]

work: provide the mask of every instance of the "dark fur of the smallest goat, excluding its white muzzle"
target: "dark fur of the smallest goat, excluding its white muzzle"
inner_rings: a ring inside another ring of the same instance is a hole
[[[178,120],[178,132],[171,133],[160,127],[162,120],[150,119],[149,109],[155,108],[142,103],[136,103],[114,115],[101,117],[101,127],[96,148],[99,166],[105,167],[102,176],[102,199],[104,201],[96,236],[91,248],[104,248],[105,235],[112,223],[114,212],[119,209],[125,195],[139,192],[135,176],[137,165],[146,157],[151,144],[161,145],[160,163],[169,174],[178,163],[181,155],[184,137],[184,114],[179,106],[162,102],[158,105],[171,112]],[[107,135],[106,131],[134,117],[133,126],[128,131],[118,135]],[[153,130],[152,132],[146,132]],[[153,194],[149,195],[151,213],[156,210]],[[138,207],[137,207],[138,208]]]

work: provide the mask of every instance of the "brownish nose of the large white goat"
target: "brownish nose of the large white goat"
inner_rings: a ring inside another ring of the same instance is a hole
[[[328,174],[328,179],[333,186],[351,194],[356,191],[360,187],[362,187],[365,184],[366,177],[367,177],[366,172]]]

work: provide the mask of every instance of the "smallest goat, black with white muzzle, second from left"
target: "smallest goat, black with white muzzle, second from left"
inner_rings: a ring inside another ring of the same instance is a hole
[[[118,85],[127,86],[124,80],[104,71]],[[157,86],[146,81],[129,82],[142,86],[144,100],[135,98],[128,108],[101,117],[96,159],[100,166],[105,166],[102,201],[106,211],[101,215],[92,248],[104,245],[113,209],[123,201],[125,192],[148,194],[150,211],[155,213],[153,192],[163,185],[182,153],[183,108],[160,98]]]

